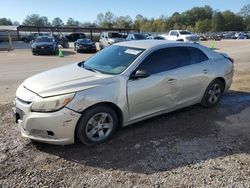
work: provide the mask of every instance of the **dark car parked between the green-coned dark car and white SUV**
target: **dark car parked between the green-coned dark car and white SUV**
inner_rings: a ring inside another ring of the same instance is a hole
[[[74,50],[76,52],[96,52],[96,45],[91,39],[78,39],[74,42]]]

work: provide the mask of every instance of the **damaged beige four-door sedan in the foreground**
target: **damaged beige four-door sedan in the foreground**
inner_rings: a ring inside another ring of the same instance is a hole
[[[197,103],[212,107],[232,78],[232,59],[199,44],[121,42],[28,78],[14,110],[24,137],[62,145],[78,137],[91,145],[120,126]]]

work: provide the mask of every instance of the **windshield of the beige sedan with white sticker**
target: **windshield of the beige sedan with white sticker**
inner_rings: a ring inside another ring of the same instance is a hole
[[[89,58],[83,68],[104,74],[122,73],[145,49],[112,45]]]

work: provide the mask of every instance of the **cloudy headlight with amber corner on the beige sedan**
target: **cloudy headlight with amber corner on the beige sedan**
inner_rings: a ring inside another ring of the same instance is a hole
[[[73,98],[75,94],[66,94],[55,97],[43,98],[38,101],[33,102],[31,106],[32,112],[53,112],[60,110],[65,105],[67,105]]]

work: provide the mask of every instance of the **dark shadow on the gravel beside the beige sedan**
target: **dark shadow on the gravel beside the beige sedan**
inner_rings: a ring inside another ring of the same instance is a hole
[[[250,93],[230,91],[214,108],[194,105],[157,116],[120,129],[105,144],[39,149],[81,165],[152,174],[249,153],[249,113]]]

